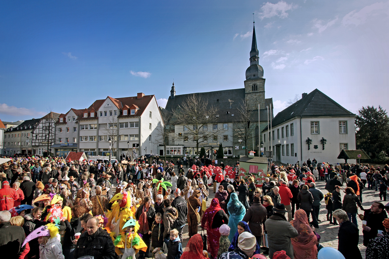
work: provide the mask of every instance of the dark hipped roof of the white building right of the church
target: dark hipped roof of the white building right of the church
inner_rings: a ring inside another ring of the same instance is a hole
[[[301,98],[296,103],[277,113],[272,120],[272,127],[284,123],[294,117],[312,116],[356,116],[346,110],[333,99],[323,94],[318,89],[313,90],[307,96]],[[267,126],[263,131],[267,130]],[[263,132],[262,131],[262,132]]]

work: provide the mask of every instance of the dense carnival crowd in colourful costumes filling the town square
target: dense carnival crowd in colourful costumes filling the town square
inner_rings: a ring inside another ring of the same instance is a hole
[[[361,203],[366,183],[386,200],[387,165],[272,164],[259,184],[252,174],[239,176],[239,162],[150,161],[11,158],[0,171],[0,246],[19,259],[315,259],[324,200],[327,221],[340,225],[338,250],[346,259],[362,258],[357,217],[366,258],[389,255],[389,204]]]

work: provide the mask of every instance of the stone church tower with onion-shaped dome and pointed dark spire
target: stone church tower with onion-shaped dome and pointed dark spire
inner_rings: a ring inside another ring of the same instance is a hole
[[[258,110],[258,104],[260,109],[265,108],[265,78],[263,78],[263,68],[259,65],[258,55],[259,51],[254,25],[252,29],[250,66],[246,70],[246,80],[244,81],[245,98],[250,110]]]

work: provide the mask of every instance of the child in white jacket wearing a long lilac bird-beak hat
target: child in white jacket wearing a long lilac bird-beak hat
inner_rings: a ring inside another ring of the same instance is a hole
[[[35,229],[26,237],[22,247],[34,238],[38,238],[39,256],[45,259],[64,259],[58,226],[49,223],[46,226]]]

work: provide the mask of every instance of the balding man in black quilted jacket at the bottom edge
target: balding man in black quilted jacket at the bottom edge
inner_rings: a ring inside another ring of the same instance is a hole
[[[115,246],[112,238],[102,228],[98,227],[98,218],[91,217],[86,223],[86,231],[77,240],[74,258],[94,256],[95,259],[115,259]]]

